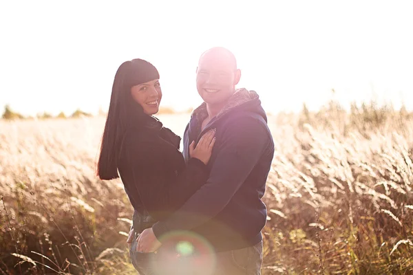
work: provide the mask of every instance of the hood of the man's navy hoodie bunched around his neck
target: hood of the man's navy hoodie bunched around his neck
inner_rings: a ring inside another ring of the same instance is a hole
[[[247,89],[237,89],[235,93],[229,98],[228,103],[222,108],[220,113],[215,116],[215,120],[220,120],[227,113],[232,111],[251,111],[260,114],[265,121],[267,121],[266,113],[261,107],[261,100],[258,94]],[[191,118],[196,118],[198,121],[203,121],[208,117],[207,103],[203,102],[200,107],[192,112]]]

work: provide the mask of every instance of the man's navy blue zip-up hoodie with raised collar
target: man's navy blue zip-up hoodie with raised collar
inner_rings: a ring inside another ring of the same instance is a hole
[[[209,129],[217,138],[207,169],[209,179],[167,219],[153,225],[158,239],[175,230],[189,230],[215,251],[236,250],[262,241],[266,206],[262,201],[274,155],[267,118],[255,91],[239,89],[226,107],[201,130],[207,118],[203,103],[193,111],[184,133],[184,158],[189,144]]]

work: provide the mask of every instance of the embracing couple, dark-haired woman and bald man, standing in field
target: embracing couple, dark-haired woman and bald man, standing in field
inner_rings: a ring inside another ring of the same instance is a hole
[[[180,153],[180,137],[153,117],[162,98],[156,67],[134,59],[118,68],[98,176],[120,177],[134,207],[128,243],[139,274],[260,274],[274,143],[258,95],[235,89],[240,77],[229,50],[200,56],[204,102]]]

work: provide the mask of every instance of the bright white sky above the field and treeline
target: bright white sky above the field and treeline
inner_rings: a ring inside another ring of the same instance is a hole
[[[412,1],[0,0],[0,108],[106,110],[131,58],[158,68],[164,106],[195,107],[198,57],[224,46],[267,111],[315,109],[332,88],[413,109],[412,14]]]

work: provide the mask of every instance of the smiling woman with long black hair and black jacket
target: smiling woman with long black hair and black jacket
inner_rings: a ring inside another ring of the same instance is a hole
[[[134,59],[118,68],[103,131],[98,176],[120,176],[132,206],[133,228],[138,234],[178,209],[207,181],[207,162],[215,131],[206,133],[185,164],[179,151],[180,137],[162,126],[158,113],[162,91],[158,70]],[[149,257],[131,246],[132,263],[140,274],[151,274]]]

